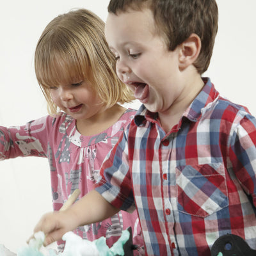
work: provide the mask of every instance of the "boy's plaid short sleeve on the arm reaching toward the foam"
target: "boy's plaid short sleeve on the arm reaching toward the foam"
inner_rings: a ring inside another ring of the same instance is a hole
[[[95,189],[116,208],[133,212],[136,207],[132,192],[126,131],[104,160]]]

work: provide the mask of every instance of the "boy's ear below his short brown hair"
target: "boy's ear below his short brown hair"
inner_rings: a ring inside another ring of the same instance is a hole
[[[201,50],[201,40],[193,33],[179,46],[179,67],[183,70],[196,61]]]

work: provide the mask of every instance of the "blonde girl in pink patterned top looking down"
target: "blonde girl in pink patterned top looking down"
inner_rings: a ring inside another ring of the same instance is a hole
[[[135,113],[118,102],[133,97],[115,74],[104,22],[88,10],[59,15],[46,26],[36,46],[35,72],[50,115],[20,127],[0,127],[0,159],[47,157],[53,209],[58,211],[75,189],[81,190],[80,197],[92,190],[104,157]],[[136,212],[119,212],[74,232],[90,241],[104,236],[112,246],[130,226],[133,243],[141,247]],[[58,244],[63,250],[63,241]]]

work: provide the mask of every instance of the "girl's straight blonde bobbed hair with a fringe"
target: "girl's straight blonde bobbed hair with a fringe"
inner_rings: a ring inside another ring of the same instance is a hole
[[[104,22],[86,9],[71,10],[44,29],[35,51],[36,79],[50,115],[58,112],[51,87],[88,80],[107,108],[134,99],[115,73],[115,57],[104,37]]]

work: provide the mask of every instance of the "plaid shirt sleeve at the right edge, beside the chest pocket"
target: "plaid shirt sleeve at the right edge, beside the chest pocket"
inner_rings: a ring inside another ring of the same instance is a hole
[[[232,170],[256,207],[256,120],[245,115],[232,130],[229,159]]]

